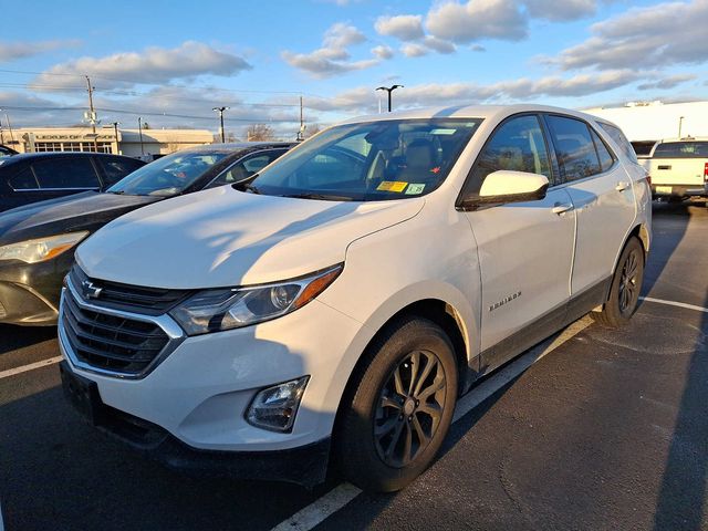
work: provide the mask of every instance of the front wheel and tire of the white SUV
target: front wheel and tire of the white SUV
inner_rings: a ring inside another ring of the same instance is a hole
[[[337,461],[357,487],[400,490],[440,449],[458,392],[455,351],[431,321],[393,323],[355,374],[335,434]]]

